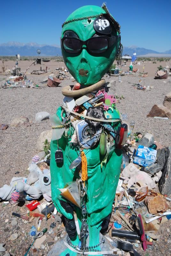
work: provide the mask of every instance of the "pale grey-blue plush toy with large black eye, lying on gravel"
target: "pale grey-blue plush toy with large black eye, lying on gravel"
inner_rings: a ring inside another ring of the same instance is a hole
[[[49,169],[43,172],[32,163],[28,178],[13,177],[9,185],[0,188],[0,198],[8,201],[25,201],[38,199],[41,195],[51,201],[51,174]]]

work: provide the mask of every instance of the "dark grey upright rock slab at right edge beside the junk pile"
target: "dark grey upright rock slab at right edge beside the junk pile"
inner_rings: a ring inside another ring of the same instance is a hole
[[[162,176],[159,180],[159,191],[161,194],[171,194],[171,147],[162,148],[157,163],[163,166]]]

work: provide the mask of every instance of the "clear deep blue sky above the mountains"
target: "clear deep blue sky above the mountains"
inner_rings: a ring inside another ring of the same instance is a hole
[[[103,1],[1,1],[0,44],[9,41],[59,45],[61,24],[82,5]],[[163,52],[171,49],[171,1],[108,0],[107,8],[121,25],[124,46]]]

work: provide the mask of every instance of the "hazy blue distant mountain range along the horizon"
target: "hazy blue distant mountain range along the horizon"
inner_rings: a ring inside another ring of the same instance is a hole
[[[61,48],[58,45],[40,45],[34,42],[31,43],[19,43],[19,42],[8,42],[0,44],[0,56],[13,56],[20,54],[21,56],[37,56],[37,49],[41,50],[40,56],[61,56]],[[123,55],[128,54],[130,56],[136,52],[137,56],[168,56],[171,57],[171,50],[159,53],[150,49],[137,47],[135,45],[123,46]]]

